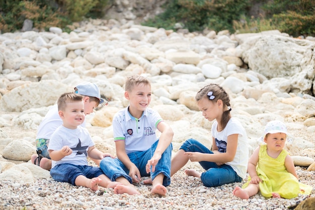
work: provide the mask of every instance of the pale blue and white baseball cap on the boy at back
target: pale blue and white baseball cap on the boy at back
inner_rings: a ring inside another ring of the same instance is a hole
[[[96,97],[100,100],[100,104],[102,105],[107,105],[108,101],[105,100],[104,98],[101,98],[101,92],[99,87],[91,82],[83,82],[76,87],[74,87],[75,93],[78,93],[80,95],[87,95],[87,96],[92,96]]]

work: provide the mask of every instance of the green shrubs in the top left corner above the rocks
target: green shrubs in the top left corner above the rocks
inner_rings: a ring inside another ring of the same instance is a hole
[[[51,26],[66,29],[74,21],[85,16],[100,17],[103,8],[113,0],[0,0],[1,33],[22,29],[26,19],[33,26],[47,30]]]

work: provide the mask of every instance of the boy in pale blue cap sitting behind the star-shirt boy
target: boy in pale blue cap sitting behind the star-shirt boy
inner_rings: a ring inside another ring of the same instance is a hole
[[[84,114],[89,115],[99,104],[107,105],[108,102],[101,98],[100,89],[91,82],[83,82],[74,87],[74,92],[84,96]],[[45,115],[45,118],[38,127],[36,136],[36,151],[38,155],[32,155],[32,163],[39,165],[41,168],[50,170],[51,159],[47,147],[52,133],[62,125],[62,120],[58,115],[57,104],[54,104]],[[81,125],[86,127],[85,121]],[[99,164],[99,162],[97,162]]]

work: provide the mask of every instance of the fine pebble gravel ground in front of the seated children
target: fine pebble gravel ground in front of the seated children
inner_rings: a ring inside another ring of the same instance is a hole
[[[68,183],[38,179],[36,183],[0,184],[1,209],[289,209],[308,195],[292,199],[264,198],[260,193],[248,200],[233,196],[232,190],[242,183],[205,187],[199,178],[187,176],[185,168],[198,166],[188,163],[172,177],[166,196],[152,195],[151,185],[136,184],[141,195],[114,194],[113,189],[99,187],[92,191]],[[315,186],[315,173],[296,167],[300,181]],[[246,181],[246,180],[244,180]],[[314,196],[314,190],[310,196]]]

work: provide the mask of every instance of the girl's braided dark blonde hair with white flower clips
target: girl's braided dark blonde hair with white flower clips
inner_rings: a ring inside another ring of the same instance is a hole
[[[230,107],[229,97],[226,91],[218,84],[209,84],[202,89],[200,89],[195,99],[199,101],[201,98],[206,97],[208,100],[211,100],[211,102],[215,103],[218,99],[222,100],[223,102],[223,114],[220,126],[222,127],[222,130],[225,128],[227,122],[229,119],[231,119],[230,111],[232,110]],[[227,110],[224,110],[227,109]]]

